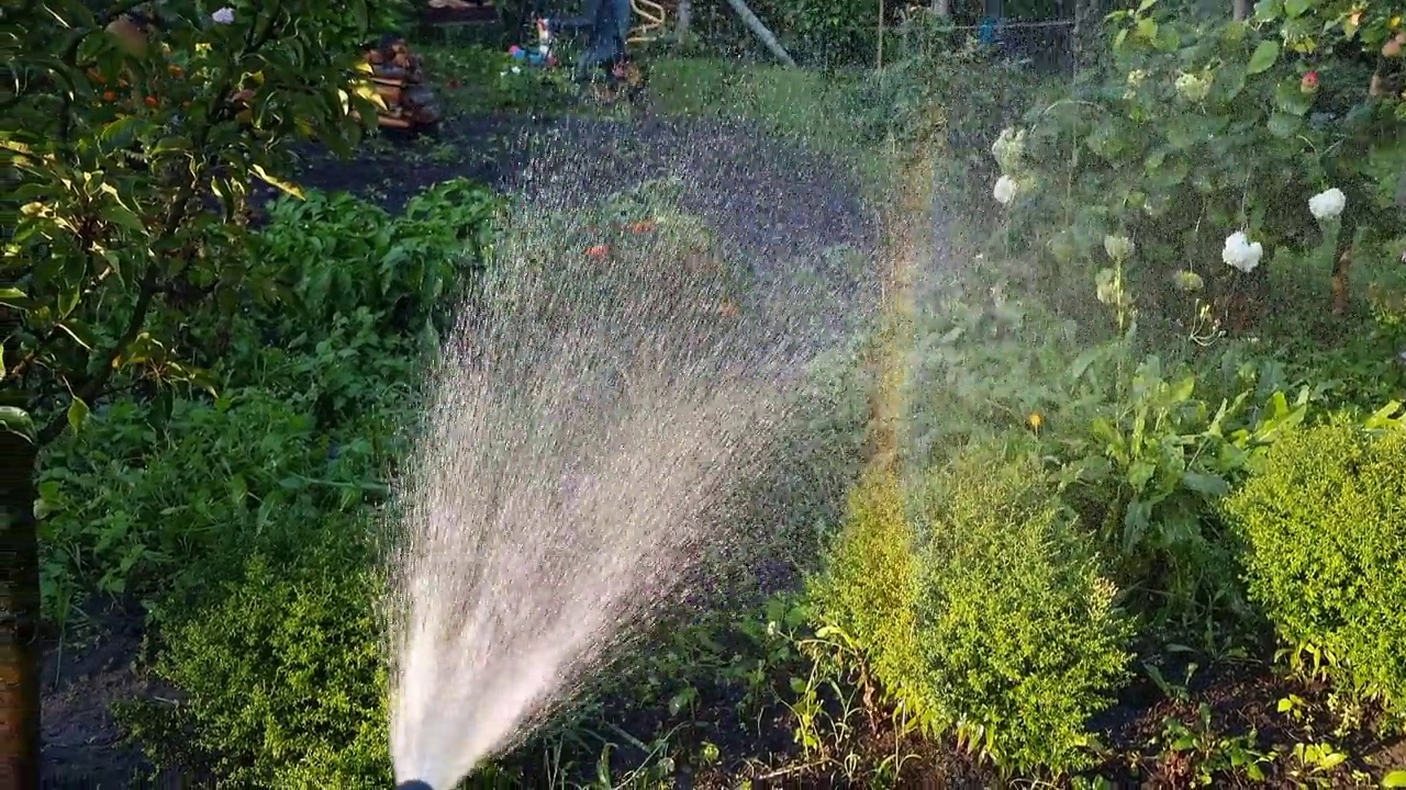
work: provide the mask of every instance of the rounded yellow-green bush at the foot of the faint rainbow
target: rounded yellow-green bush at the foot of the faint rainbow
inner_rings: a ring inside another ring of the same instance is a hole
[[[870,479],[813,590],[931,734],[1022,775],[1094,760],[1085,725],[1125,678],[1130,624],[1033,461],[984,444],[907,496]]]

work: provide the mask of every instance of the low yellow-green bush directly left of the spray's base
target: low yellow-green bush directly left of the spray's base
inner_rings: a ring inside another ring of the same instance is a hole
[[[368,529],[326,514],[316,526],[291,558],[249,557],[215,603],[165,631],[156,673],[186,699],[127,711],[160,762],[228,787],[391,783]]]

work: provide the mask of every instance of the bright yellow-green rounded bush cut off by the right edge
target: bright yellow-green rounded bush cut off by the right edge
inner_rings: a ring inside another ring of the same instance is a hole
[[[1279,440],[1225,500],[1251,597],[1295,656],[1393,707],[1406,700],[1406,423],[1337,420]],[[1317,661],[1316,661],[1317,663]]]

